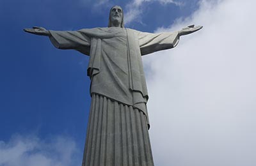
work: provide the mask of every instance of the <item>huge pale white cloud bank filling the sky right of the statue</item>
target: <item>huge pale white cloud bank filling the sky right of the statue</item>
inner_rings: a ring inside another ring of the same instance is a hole
[[[155,165],[256,165],[256,1],[202,1],[177,48],[145,56]]]

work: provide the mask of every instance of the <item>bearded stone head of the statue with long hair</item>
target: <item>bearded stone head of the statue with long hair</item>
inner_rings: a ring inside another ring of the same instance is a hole
[[[108,27],[115,25],[124,27],[124,12],[120,6],[113,6],[109,11]]]

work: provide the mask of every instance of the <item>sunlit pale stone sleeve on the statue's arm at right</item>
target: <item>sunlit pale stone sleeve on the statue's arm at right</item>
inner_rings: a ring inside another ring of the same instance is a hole
[[[172,49],[179,43],[179,33],[138,33],[141,56],[159,50]]]

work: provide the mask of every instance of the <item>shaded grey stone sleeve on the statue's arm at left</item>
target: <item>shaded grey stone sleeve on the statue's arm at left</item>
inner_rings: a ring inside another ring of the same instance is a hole
[[[90,55],[91,38],[81,31],[49,31],[49,37],[57,49],[73,49]]]

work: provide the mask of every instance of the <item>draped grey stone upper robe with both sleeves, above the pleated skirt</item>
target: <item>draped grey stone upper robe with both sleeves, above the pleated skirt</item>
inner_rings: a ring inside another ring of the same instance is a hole
[[[91,79],[91,96],[99,94],[143,112],[149,128],[141,56],[175,47],[179,42],[178,32],[154,34],[120,27],[49,32],[56,48],[74,49],[90,56],[87,75]]]

